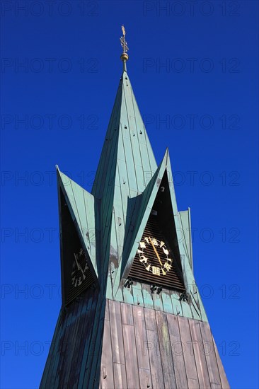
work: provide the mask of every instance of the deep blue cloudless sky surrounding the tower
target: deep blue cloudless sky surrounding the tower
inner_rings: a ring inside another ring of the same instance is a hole
[[[54,166],[91,190],[122,23],[156,160],[168,146],[178,208],[191,208],[229,383],[258,388],[258,1],[189,3],[1,1],[3,389],[40,383],[61,304]]]

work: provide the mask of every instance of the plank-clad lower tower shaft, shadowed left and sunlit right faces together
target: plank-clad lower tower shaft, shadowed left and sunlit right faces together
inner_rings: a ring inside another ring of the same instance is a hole
[[[88,290],[61,313],[41,389],[228,389],[209,324]]]

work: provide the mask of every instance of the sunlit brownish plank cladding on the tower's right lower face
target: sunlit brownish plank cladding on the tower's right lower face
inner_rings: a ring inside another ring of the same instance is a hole
[[[99,388],[229,388],[208,323],[107,304]]]

